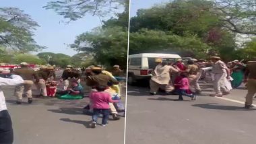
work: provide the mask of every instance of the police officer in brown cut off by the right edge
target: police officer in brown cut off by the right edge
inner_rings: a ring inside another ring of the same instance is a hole
[[[253,96],[256,94],[256,61],[247,63],[244,82],[247,83],[248,89],[245,108],[249,109],[253,107]]]

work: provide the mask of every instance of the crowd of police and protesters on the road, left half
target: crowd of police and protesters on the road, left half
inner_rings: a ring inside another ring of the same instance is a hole
[[[78,70],[78,71],[77,71]],[[79,71],[80,70],[80,71]],[[32,104],[32,87],[36,85],[40,91],[37,97],[50,98],[69,95],[72,97],[82,96],[84,98],[84,87],[81,81],[84,80],[88,87],[91,87],[89,98],[90,104],[85,107],[92,112],[92,128],[96,127],[98,114],[102,113],[102,126],[108,123],[108,115],[112,114],[113,120],[119,120],[118,111],[121,110],[121,87],[119,80],[124,79],[123,71],[118,65],[113,67],[112,73],[104,70],[101,66],[90,66],[88,68],[73,69],[67,65],[60,79],[62,87],[58,87],[55,67],[42,66],[34,71],[28,63],[21,63],[20,68],[13,69],[11,73],[0,71],[0,143],[13,143],[13,130],[11,117],[7,112],[5,97],[1,86],[15,86],[16,104],[22,104],[23,95],[28,98],[28,104]],[[116,78],[117,77],[117,78]],[[66,97],[67,98],[67,97]],[[77,97],[76,97],[77,98]],[[122,107],[124,111],[124,106]]]

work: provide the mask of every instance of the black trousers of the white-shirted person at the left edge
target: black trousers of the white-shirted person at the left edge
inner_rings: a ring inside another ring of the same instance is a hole
[[[11,117],[7,110],[0,112],[0,144],[13,143],[13,129],[11,126]]]

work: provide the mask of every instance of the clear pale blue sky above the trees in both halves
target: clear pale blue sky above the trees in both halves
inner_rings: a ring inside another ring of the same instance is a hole
[[[57,15],[52,9],[42,8],[51,0],[0,0],[0,7],[18,7],[29,14],[33,20],[38,22],[40,27],[34,32],[34,40],[47,48],[40,52],[63,53],[69,56],[77,52],[67,48],[67,44],[72,44],[75,36],[88,32],[97,26],[101,26],[98,17],[88,14],[86,17],[70,22],[69,24],[61,15]],[[169,0],[131,0],[131,17],[136,15],[137,9],[150,8],[154,4],[168,2]],[[109,17],[106,17],[107,20]],[[103,19],[104,20],[104,19]],[[34,52],[36,54],[36,52]]]

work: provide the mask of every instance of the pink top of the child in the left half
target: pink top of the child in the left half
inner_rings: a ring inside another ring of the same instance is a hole
[[[97,109],[108,109],[109,102],[118,102],[118,100],[112,100],[107,92],[92,92],[89,98],[92,100],[92,108]]]

